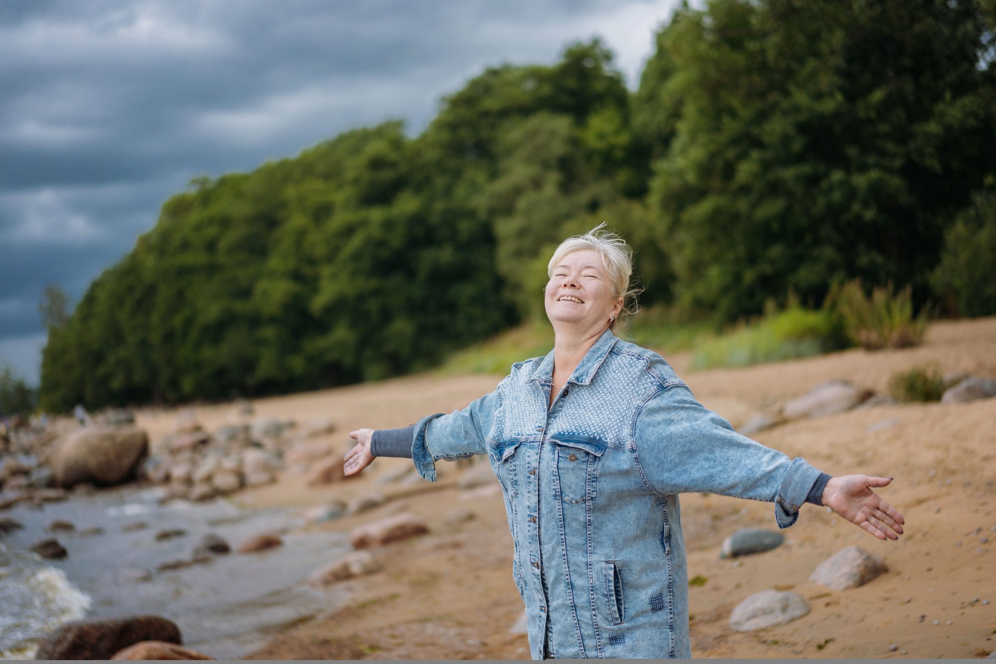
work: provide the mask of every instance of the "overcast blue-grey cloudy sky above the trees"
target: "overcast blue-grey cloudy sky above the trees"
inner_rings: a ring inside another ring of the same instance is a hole
[[[191,177],[417,134],[484,67],[593,35],[632,88],[674,4],[0,0],[0,362],[37,382],[45,285],[77,301]]]

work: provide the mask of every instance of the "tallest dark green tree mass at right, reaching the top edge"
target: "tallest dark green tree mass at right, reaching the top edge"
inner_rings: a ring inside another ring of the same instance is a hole
[[[970,1],[680,10],[644,78],[677,109],[644,131],[679,302],[731,320],[856,276],[922,301],[942,219],[994,166],[986,35]]]

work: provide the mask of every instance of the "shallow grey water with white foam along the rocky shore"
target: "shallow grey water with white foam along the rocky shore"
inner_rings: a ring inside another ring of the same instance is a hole
[[[335,608],[335,595],[312,588],[305,577],[350,550],[345,533],[296,532],[303,521],[287,509],[248,509],[225,499],[159,504],[161,497],[159,489],[129,488],[8,512],[25,527],[2,536],[0,658],[32,657],[39,638],[68,620],[154,614],[176,622],[186,646],[232,659],[290,624]],[[55,519],[71,521],[76,530],[48,532]],[[139,520],[148,526],[123,530]],[[80,534],[93,526],[105,532]],[[157,541],[156,532],[167,528],[186,534]],[[284,545],[155,571],[163,562],[189,559],[208,532],[234,549],[268,531],[282,531]],[[68,557],[42,560],[28,550],[47,537],[58,539]],[[152,579],[129,580],[135,569],[150,570]]]

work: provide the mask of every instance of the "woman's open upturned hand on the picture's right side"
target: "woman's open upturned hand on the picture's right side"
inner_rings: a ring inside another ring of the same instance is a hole
[[[831,479],[821,499],[825,505],[878,539],[898,539],[905,523],[902,514],[871,491],[872,487],[887,487],[891,482],[891,478],[845,475]]]

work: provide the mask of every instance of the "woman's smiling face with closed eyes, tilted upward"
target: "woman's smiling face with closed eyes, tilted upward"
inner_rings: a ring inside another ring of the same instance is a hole
[[[602,258],[591,249],[574,251],[554,267],[547,283],[545,304],[547,317],[557,323],[576,323],[584,327],[607,327],[622,309],[622,298],[613,297]]]

